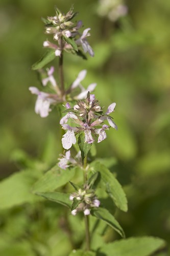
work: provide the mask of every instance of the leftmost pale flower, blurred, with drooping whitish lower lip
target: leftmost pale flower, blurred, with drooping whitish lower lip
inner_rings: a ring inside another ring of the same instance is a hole
[[[50,105],[55,102],[54,99],[50,98],[48,93],[41,92],[36,87],[30,87],[29,90],[32,94],[38,96],[35,103],[35,113],[41,117],[47,117],[51,111]]]

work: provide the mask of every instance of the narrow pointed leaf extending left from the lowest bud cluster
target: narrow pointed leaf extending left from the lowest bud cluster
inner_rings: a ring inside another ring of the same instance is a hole
[[[71,208],[71,200],[69,200],[69,194],[60,193],[60,192],[50,192],[50,193],[36,193],[37,196],[46,198],[47,200],[62,204]]]

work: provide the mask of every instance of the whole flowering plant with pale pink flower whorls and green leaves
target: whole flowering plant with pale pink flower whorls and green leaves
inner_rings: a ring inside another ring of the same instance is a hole
[[[30,87],[29,90],[37,95],[35,112],[43,118],[52,111],[52,106],[64,105],[65,110],[60,115],[61,131],[64,132],[61,137],[63,152],[58,157],[57,165],[34,184],[33,193],[68,207],[69,211],[65,214],[67,226],[70,215],[80,215],[84,219],[86,245],[82,242],[81,246],[77,247],[73,241],[70,256],[135,256],[138,251],[141,251],[141,256],[150,255],[162,246],[162,240],[132,238],[129,241],[124,239],[109,244],[103,241],[102,245],[98,244],[96,247],[92,244],[95,229],[101,222],[125,238],[123,228],[114,217],[116,207],[125,212],[128,210],[125,192],[108,166],[95,154],[94,158],[92,157],[92,147],[107,138],[106,130],[111,127],[117,130],[117,125],[110,115],[114,112],[116,103],[110,104],[107,111],[104,111],[100,101],[91,94],[96,83],[91,83],[86,89],[81,84],[86,70],[80,71],[76,80],[71,82],[68,88],[65,87],[63,54],[72,53],[86,58],[85,53],[93,57],[94,52],[87,41],[90,28],[80,32],[82,22],[72,21],[77,13],[74,13],[72,8],[66,14],[58,8],[55,8],[55,11],[55,16],[42,19],[45,23],[45,33],[52,34],[54,42],[43,42],[43,47],[48,48],[48,51],[33,65],[33,70],[42,75],[44,91],[36,87]],[[59,61],[58,81],[54,77],[53,66],[46,71],[42,70],[55,58]]]

